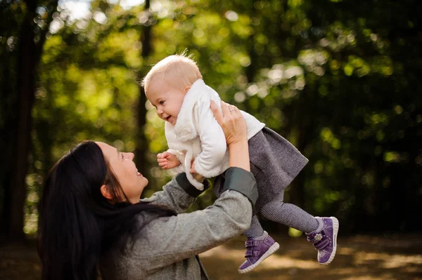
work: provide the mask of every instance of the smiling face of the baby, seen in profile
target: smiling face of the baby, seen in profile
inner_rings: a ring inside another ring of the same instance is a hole
[[[164,81],[151,81],[146,98],[157,109],[158,116],[174,126],[187,91],[188,88],[174,88]]]

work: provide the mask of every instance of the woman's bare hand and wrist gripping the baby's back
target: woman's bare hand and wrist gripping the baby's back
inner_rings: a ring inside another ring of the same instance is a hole
[[[219,111],[215,102],[211,100],[210,108],[226,136],[226,142],[229,146],[229,165],[250,171],[245,120],[236,106],[228,105],[223,101],[221,105],[222,112]]]

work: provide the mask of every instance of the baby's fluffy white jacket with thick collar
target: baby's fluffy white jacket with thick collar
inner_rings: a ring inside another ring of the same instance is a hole
[[[189,182],[202,190],[203,184],[196,181],[189,170],[195,159],[196,172],[205,178],[215,177],[229,168],[229,151],[226,138],[210,109],[213,100],[221,110],[220,98],[216,91],[202,79],[195,81],[184,97],[176,125],[165,123],[165,137],[168,152],[175,154],[181,165],[174,168],[186,172]],[[248,140],[265,126],[254,116],[241,111],[248,130]]]

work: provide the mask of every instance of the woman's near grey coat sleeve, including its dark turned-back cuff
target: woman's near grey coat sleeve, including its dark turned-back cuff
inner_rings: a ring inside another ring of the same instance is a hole
[[[202,211],[156,218],[144,227],[130,260],[152,271],[191,258],[238,236],[250,226],[257,187],[252,173],[229,168],[223,194]]]

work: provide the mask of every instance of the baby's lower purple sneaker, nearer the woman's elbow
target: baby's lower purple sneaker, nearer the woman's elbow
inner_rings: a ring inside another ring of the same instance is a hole
[[[245,242],[246,253],[245,262],[239,267],[239,273],[250,272],[257,267],[263,260],[279,250],[280,245],[264,232],[262,236],[255,238],[248,238]]]

